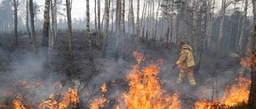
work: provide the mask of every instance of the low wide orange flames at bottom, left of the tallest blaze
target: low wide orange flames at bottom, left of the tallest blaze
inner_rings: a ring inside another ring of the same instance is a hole
[[[66,93],[51,94],[49,96],[50,100],[43,101],[38,105],[39,109],[48,108],[68,108],[76,107],[79,103],[78,91],[77,89],[69,88]]]

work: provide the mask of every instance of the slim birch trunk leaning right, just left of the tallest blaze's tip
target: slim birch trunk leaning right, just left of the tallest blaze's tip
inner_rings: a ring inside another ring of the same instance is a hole
[[[104,29],[104,36],[103,36],[103,44],[102,44],[102,58],[106,58],[106,42],[109,32],[109,18],[110,18],[110,7],[109,7],[109,1],[105,0],[105,29]]]

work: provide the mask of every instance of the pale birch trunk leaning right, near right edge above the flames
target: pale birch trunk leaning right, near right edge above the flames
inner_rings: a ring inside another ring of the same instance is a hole
[[[238,42],[238,47],[236,50],[236,53],[238,54],[242,54],[242,45],[243,45],[243,39],[244,39],[244,33],[245,33],[245,26],[246,26],[246,15],[247,15],[247,8],[248,8],[248,0],[246,0],[246,4],[245,4],[245,10],[244,10],[244,14],[243,14],[243,19],[242,19],[242,32],[241,32],[241,36]]]

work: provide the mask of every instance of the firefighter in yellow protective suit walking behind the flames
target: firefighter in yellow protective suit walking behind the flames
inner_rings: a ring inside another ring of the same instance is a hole
[[[178,73],[177,84],[182,84],[184,76],[186,76],[190,82],[190,86],[194,88],[196,86],[196,82],[193,76],[195,65],[192,53],[193,49],[190,47],[190,45],[186,45],[186,43],[182,41],[178,42],[178,46],[180,47],[179,58],[173,66],[173,68],[176,66],[181,68],[180,72]]]

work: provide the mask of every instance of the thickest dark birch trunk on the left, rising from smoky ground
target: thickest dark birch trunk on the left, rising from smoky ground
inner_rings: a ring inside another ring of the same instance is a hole
[[[45,61],[43,61],[43,66],[45,68],[49,67],[49,63],[48,63],[48,45],[49,45],[48,41],[49,41],[49,26],[50,26],[49,10],[50,10],[50,0],[46,0],[44,16],[43,16],[44,22],[43,22],[43,29],[42,29],[42,56],[45,56]]]

